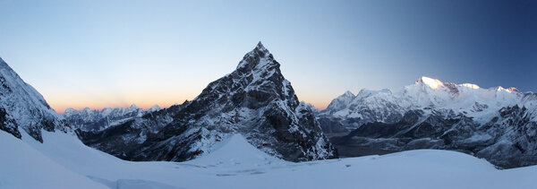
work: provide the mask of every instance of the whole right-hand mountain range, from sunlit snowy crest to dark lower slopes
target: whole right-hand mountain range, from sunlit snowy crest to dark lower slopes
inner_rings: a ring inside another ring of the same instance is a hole
[[[344,136],[331,140],[342,156],[444,149],[473,154],[501,168],[537,164],[533,92],[422,78],[395,94],[369,93],[320,113],[320,120],[334,120],[321,121],[323,129],[346,129]]]

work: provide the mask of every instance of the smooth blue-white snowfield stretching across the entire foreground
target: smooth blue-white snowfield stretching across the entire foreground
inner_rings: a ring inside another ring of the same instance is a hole
[[[23,132],[21,132],[23,133]],[[44,143],[0,132],[0,188],[534,188],[537,167],[498,170],[447,150],[303,163],[276,159],[234,135],[185,162],[130,162],[65,133]]]

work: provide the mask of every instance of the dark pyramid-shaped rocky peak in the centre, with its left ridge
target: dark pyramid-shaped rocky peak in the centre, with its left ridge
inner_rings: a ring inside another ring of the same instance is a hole
[[[234,133],[243,134],[252,145],[281,159],[337,157],[313,112],[310,105],[298,101],[277,61],[259,43],[233,73],[209,83],[196,99],[175,110],[165,108],[132,123],[79,135],[99,150],[113,150],[113,155],[132,160],[192,159]],[[129,130],[144,125],[140,123],[164,126],[153,130],[157,132],[132,134],[139,133]],[[136,145],[115,148],[106,142],[107,135],[119,140],[125,134],[132,134],[126,138],[137,138]]]

